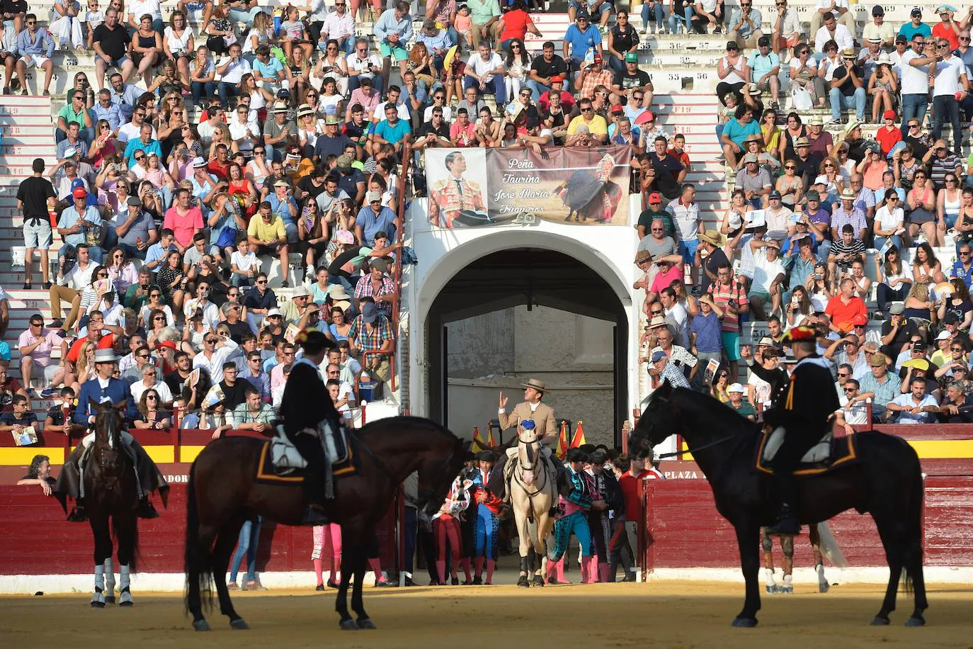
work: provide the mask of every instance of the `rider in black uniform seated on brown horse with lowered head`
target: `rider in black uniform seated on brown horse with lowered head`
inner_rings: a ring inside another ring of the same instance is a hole
[[[335,409],[317,366],[335,343],[313,330],[301,332],[296,342],[304,348],[304,356],[291,368],[280,400],[280,416],[284,420],[284,433],[307,460],[304,487],[308,508],[304,523],[326,523],[323,509],[325,463],[328,460],[324,455],[323,440],[318,435],[318,426],[326,419],[335,430],[339,430],[342,416]]]

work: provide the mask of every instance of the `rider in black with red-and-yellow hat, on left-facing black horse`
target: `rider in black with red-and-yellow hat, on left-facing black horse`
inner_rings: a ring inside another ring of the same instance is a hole
[[[782,342],[791,343],[798,363],[790,380],[775,394],[774,405],[764,413],[764,421],[775,427],[783,426],[785,431],[773,461],[780,512],[777,522],[767,532],[793,535],[801,531],[794,469],[828,431],[841,404],[830,363],[817,353],[816,332],[810,327],[795,327],[784,334]]]

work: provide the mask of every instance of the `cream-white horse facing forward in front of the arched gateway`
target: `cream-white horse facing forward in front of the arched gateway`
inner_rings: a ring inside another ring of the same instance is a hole
[[[516,462],[508,488],[520,536],[521,578],[517,585],[529,587],[532,572],[533,585],[544,586],[546,541],[554,525],[551,508],[558,502],[558,480],[545,459],[533,421],[520,423],[517,448],[508,449],[507,457],[508,462]]]

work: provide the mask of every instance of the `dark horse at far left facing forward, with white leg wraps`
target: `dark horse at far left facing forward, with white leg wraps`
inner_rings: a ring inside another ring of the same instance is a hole
[[[138,484],[135,462],[122,443],[125,402],[96,404],[94,441],[85,464],[85,502],[94,534],[94,595],[92,608],[115,601],[112,535],[119,546],[119,605],[131,606],[128,581],[138,550]],[[107,577],[107,588],[105,579]]]

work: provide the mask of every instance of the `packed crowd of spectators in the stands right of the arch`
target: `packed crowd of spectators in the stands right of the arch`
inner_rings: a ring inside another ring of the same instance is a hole
[[[964,169],[973,161],[960,157],[959,116],[973,107],[973,11],[960,20],[939,7],[930,28],[917,8],[896,29],[876,6],[858,32],[847,2],[826,0],[808,39],[786,2],[776,7],[776,22],[763,25],[744,0],[723,24],[731,41],[717,67],[717,136],[732,198],[718,229],[705,228],[696,189],[681,183],[688,165],[674,139],[658,138],[642,171],[642,187],[655,191],[638,221],[645,274],[635,288],[646,292],[641,360],[653,386],[693,386],[757,418],[789,366],[783,332],[805,325],[835,366],[848,430],[869,408],[876,421],[969,421],[973,183]],[[880,125],[872,137],[862,132],[869,100]],[[829,102],[827,125],[802,117]],[[855,116],[846,120],[847,108]],[[937,260],[941,246],[950,258],[955,248],[955,263]],[[739,343],[748,320],[766,320],[752,346]]]

